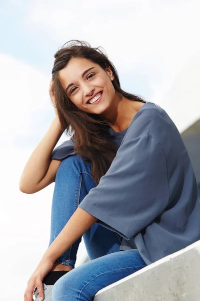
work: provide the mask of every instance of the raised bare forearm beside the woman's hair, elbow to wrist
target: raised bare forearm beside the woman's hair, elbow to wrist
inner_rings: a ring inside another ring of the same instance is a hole
[[[49,167],[50,155],[63,130],[58,117],[55,117],[29,157],[19,182],[19,187],[36,186],[45,176]]]

